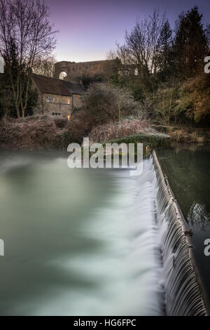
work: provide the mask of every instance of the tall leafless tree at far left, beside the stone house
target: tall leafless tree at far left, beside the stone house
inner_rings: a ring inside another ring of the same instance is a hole
[[[55,48],[49,9],[41,0],[0,0],[0,55],[6,65],[17,116],[25,117],[30,73]]]

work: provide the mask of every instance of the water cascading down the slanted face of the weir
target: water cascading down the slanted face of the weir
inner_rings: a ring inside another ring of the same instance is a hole
[[[207,315],[200,282],[193,265],[192,247],[186,237],[183,215],[174,199],[167,177],[153,152],[157,177],[157,224],[162,246],[166,315]]]

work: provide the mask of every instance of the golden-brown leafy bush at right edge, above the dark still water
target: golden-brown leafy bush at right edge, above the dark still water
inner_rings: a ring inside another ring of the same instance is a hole
[[[209,124],[210,79],[200,74],[182,83],[161,84],[156,93],[148,95],[142,105],[158,124]]]

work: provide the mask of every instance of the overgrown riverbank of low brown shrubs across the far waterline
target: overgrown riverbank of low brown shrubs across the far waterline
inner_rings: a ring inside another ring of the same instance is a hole
[[[82,135],[76,136],[79,124],[76,119],[48,117],[26,117],[0,121],[0,150],[66,150],[69,143],[82,143]],[[88,136],[88,133],[83,133]],[[76,140],[75,140],[76,138]],[[104,124],[93,128],[89,133],[90,143],[144,143],[146,155],[157,147],[170,145],[204,145],[210,142],[207,128],[187,128],[181,126],[153,125],[136,118],[118,123]]]

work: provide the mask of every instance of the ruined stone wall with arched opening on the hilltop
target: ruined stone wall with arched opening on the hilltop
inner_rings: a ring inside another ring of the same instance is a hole
[[[55,78],[61,78],[64,74],[67,80],[81,77],[106,76],[106,66],[110,60],[97,60],[92,62],[57,62],[55,63]]]

